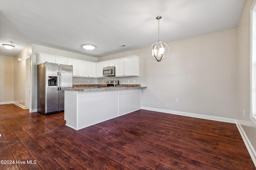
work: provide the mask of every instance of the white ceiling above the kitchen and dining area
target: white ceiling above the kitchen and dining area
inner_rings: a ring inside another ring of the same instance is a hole
[[[92,57],[150,47],[158,41],[156,16],[167,43],[237,27],[245,1],[0,0],[0,44],[15,45],[1,45],[0,55],[15,56],[30,44]]]

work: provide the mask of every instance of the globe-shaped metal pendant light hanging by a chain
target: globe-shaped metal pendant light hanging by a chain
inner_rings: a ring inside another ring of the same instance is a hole
[[[161,16],[157,16],[156,20],[158,20],[158,41],[151,45],[149,49],[150,56],[155,61],[162,61],[169,54],[169,47],[166,43],[163,43],[159,40],[159,20]]]

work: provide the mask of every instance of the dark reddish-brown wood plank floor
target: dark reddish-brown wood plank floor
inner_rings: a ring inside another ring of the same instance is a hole
[[[6,104],[0,132],[0,160],[14,160],[0,170],[256,169],[235,124],[154,111],[76,131],[64,113],[45,116]]]

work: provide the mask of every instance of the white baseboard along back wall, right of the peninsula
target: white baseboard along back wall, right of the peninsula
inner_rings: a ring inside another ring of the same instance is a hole
[[[144,107],[144,106],[141,106],[141,109],[150,110],[150,111],[158,111],[158,112],[163,112],[163,113],[170,113],[170,114],[174,114],[174,115],[196,117],[196,118],[200,118],[200,119],[208,119],[208,120],[214,120],[214,121],[223,121],[223,122],[228,122],[228,123],[236,123],[236,119],[230,119],[230,118],[225,118],[225,117],[200,115],[200,114],[196,114],[196,113],[188,113],[188,112],[174,111],[174,110],[167,110],[167,109],[158,109],[158,108]]]

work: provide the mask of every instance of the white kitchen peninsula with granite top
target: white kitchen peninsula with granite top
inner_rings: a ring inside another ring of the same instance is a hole
[[[79,130],[141,107],[140,84],[120,87],[66,88],[64,120]]]

